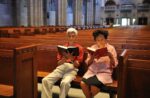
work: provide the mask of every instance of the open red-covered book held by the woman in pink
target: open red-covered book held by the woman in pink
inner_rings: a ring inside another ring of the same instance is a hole
[[[96,55],[97,58],[102,57],[102,56],[107,56],[107,53],[108,53],[107,47],[101,48],[101,49],[94,49],[91,47],[87,47],[87,50],[90,54]]]

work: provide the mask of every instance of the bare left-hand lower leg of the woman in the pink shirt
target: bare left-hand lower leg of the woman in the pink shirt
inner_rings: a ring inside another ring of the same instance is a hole
[[[81,81],[80,86],[86,98],[92,98],[90,86],[84,83],[83,81]]]

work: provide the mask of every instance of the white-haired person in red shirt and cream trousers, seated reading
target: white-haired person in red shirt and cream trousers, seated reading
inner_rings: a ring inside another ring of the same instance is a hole
[[[67,43],[64,46],[75,46],[79,48],[79,55],[74,56],[71,53],[58,53],[58,67],[49,75],[44,77],[42,80],[42,98],[52,98],[52,87],[60,78],[60,97],[66,98],[68,94],[70,83],[76,77],[78,72],[78,67],[80,66],[80,62],[83,60],[84,50],[81,45],[76,43],[78,32],[74,28],[69,28],[67,30]]]

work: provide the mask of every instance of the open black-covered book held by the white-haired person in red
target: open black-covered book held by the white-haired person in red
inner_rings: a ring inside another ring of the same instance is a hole
[[[73,56],[79,56],[79,48],[75,46],[62,46],[57,45],[58,52],[63,55],[64,52],[71,53]]]

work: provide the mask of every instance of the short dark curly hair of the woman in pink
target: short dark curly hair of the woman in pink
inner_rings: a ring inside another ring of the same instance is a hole
[[[93,32],[93,37],[94,37],[94,40],[96,40],[96,38],[99,36],[99,35],[103,35],[105,39],[107,39],[109,33],[107,30],[95,30]]]

